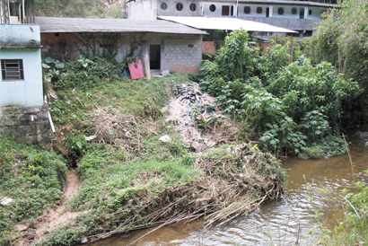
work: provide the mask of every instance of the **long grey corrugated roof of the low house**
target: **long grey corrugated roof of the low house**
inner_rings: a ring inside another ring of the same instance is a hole
[[[163,20],[133,21],[127,19],[85,19],[36,17],[41,32],[159,32],[173,34],[206,34],[179,23]]]

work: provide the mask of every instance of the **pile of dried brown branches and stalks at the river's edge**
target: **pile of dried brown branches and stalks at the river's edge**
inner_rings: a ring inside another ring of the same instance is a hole
[[[117,229],[107,233],[108,229],[101,227],[100,233],[87,238],[93,242],[114,233],[201,216],[205,216],[206,226],[224,224],[281,195],[284,174],[271,154],[260,153],[245,144],[229,147],[227,152],[216,160],[211,154],[198,159],[195,168],[204,175],[190,184],[163,189],[158,196],[142,193],[129,200],[121,212],[105,215],[106,223],[119,224]]]

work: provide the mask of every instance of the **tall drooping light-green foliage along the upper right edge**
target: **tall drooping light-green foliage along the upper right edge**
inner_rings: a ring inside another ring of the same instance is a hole
[[[316,34],[305,41],[305,51],[313,63],[327,61],[346,80],[352,78],[364,88],[362,96],[343,105],[353,112],[346,115],[344,125],[355,126],[368,122],[368,2],[346,0],[340,6],[324,13]]]

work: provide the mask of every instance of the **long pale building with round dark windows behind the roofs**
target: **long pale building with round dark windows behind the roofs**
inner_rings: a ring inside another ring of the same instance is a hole
[[[228,17],[263,22],[311,36],[320,15],[338,7],[337,0],[136,0],[129,3],[129,19],[156,20],[160,16]]]

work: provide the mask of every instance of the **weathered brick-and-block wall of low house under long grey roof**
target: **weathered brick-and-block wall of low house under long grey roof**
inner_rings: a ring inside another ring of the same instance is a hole
[[[90,46],[95,46],[99,55],[103,54],[101,44],[108,39],[108,34],[93,33],[41,33],[42,58],[52,57],[60,61],[75,59],[86,51],[85,43],[90,41]],[[91,36],[92,35],[92,36]],[[105,36],[104,36],[105,35]],[[161,70],[169,70],[177,73],[197,73],[202,60],[202,35],[188,34],[161,34],[161,33],[113,33],[118,37],[118,55],[115,57],[122,62],[130,51],[130,43],[133,40],[146,40],[148,45],[161,45]],[[93,43],[93,45],[92,45]],[[106,45],[106,42],[105,42]],[[103,45],[102,45],[103,46]],[[90,48],[92,50],[92,48]],[[92,53],[90,53],[92,55]],[[138,47],[135,56],[142,55],[142,47]]]

